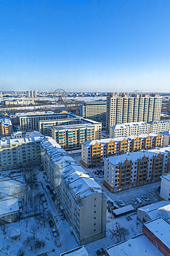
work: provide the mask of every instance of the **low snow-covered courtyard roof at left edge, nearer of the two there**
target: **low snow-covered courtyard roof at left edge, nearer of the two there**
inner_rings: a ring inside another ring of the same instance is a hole
[[[19,211],[18,199],[6,199],[0,201],[0,217]]]

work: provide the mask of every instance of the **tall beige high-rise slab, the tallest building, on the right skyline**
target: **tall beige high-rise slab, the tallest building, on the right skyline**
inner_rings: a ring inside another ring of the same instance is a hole
[[[137,93],[107,96],[106,128],[123,122],[150,122],[160,120],[162,97]]]

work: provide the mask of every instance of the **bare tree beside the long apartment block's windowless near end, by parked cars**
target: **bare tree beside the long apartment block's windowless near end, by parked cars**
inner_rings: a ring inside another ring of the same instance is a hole
[[[111,233],[111,239],[116,237],[116,240],[118,242],[125,241],[125,237],[129,235],[129,231],[127,230],[127,228],[121,227],[120,224],[117,224],[117,223],[116,223],[116,229],[115,230],[109,229],[109,232]]]

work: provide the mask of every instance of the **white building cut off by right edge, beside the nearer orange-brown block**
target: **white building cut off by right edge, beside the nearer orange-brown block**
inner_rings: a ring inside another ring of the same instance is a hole
[[[170,173],[161,176],[160,200],[170,201]]]

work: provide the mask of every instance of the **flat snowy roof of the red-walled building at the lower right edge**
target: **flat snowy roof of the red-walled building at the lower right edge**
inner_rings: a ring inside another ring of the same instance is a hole
[[[162,218],[153,219],[144,224],[164,245],[170,249],[170,224]]]

